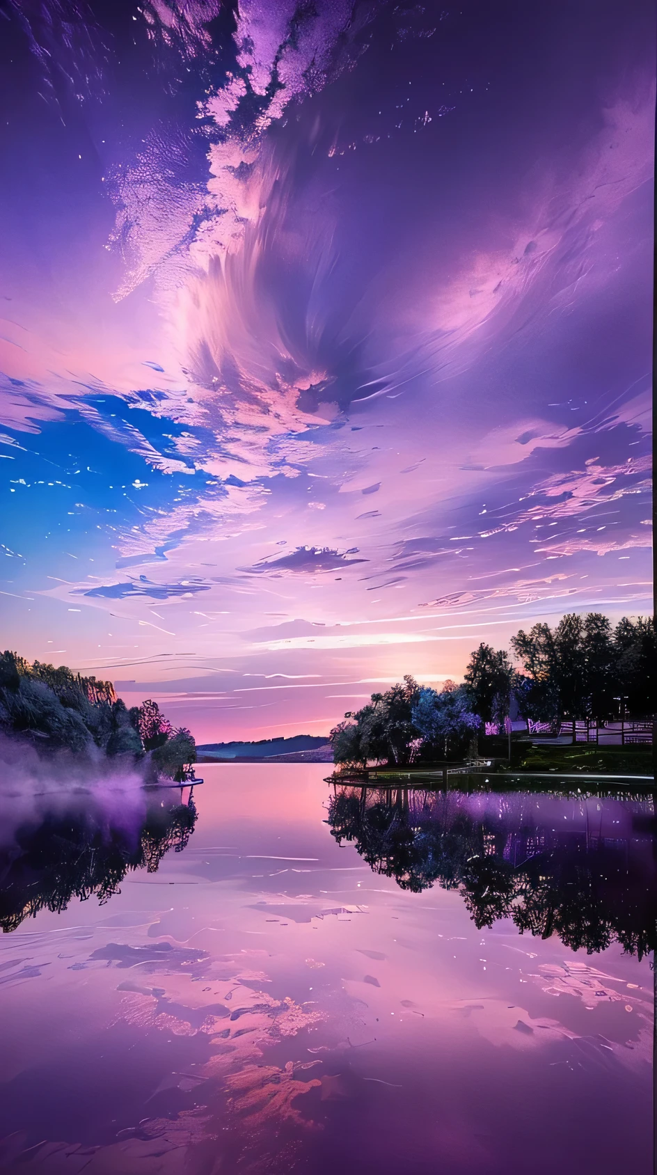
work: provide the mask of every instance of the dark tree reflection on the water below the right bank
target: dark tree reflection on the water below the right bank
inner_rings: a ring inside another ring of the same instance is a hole
[[[535,797],[531,800],[535,801]],[[480,928],[510,918],[522,932],[557,934],[589,953],[618,942],[639,959],[657,946],[656,861],[646,805],[633,805],[624,834],[559,828],[563,813],[531,814],[529,797],[489,797],[484,805],[450,792],[337,788],[328,824],[338,844],[353,841],[376,873],[403,889],[435,884],[458,889]],[[556,801],[555,801],[556,803]],[[595,801],[594,801],[595,803]],[[609,801],[603,801],[609,803]],[[598,811],[601,811],[598,805]]]

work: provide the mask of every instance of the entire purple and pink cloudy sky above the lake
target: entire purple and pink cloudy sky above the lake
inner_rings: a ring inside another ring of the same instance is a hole
[[[651,611],[652,5],[8,18],[5,644],[223,740]]]

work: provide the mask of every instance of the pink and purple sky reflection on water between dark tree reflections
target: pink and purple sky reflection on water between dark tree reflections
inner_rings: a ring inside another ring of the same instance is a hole
[[[402,889],[324,771],[206,767],[182,852],[4,936],[5,1168],[648,1175],[649,960]],[[648,804],[588,804],[649,871]]]

